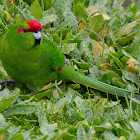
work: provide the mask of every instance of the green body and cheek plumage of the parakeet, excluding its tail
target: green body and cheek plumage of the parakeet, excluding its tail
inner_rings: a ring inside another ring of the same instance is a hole
[[[0,59],[8,75],[15,81],[37,90],[58,78],[57,69],[63,66],[65,56],[45,38],[42,38],[40,45],[33,47],[33,33],[17,34],[17,28],[21,28],[21,25],[12,25],[3,37]]]

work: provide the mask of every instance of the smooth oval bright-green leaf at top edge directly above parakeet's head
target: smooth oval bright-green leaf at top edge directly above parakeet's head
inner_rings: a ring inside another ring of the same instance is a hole
[[[36,18],[37,20],[41,18],[42,16],[42,8],[38,3],[38,0],[35,0],[30,7],[30,11],[32,12],[32,15],[34,16],[34,18]]]

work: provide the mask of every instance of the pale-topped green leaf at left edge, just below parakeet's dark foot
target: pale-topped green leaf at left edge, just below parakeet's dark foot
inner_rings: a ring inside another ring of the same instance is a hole
[[[3,94],[1,95],[0,112],[4,111],[15,100],[15,98],[20,94],[20,89],[15,89],[10,94],[8,92],[9,91],[7,89],[0,92],[0,95]]]

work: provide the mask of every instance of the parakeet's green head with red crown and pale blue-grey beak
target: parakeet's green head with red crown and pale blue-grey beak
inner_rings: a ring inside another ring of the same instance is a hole
[[[17,44],[22,48],[30,49],[40,44],[41,30],[42,26],[38,21],[28,20],[11,25],[7,37],[11,38],[13,46]]]

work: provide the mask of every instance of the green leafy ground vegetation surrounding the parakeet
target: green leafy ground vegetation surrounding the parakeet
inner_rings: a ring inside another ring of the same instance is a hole
[[[73,57],[68,64],[75,70],[138,92],[140,13],[134,1],[126,9],[123,2],[0,0],[0,38],[10,24],[36,19],[46,37]],[[7,79],[0,64],[0,82]],[[62,81],[32,95],[6,87],[0,92],[0,139],[138,140],[140,101]]]

